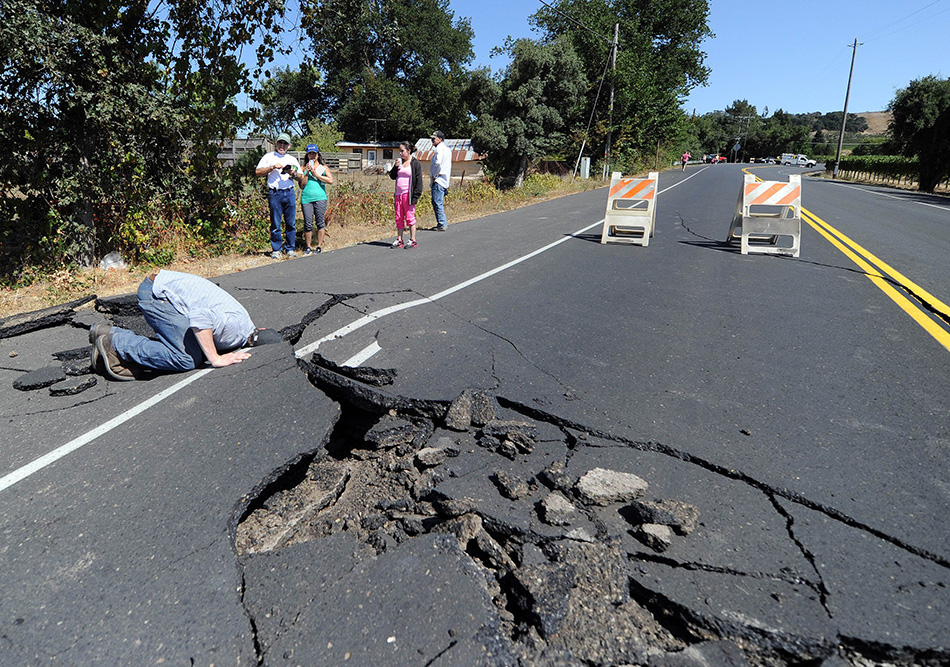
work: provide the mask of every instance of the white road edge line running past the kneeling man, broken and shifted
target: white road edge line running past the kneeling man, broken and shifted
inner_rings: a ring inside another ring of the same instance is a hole
[[[708,167],[706,167],[705,169],[708,169]],[[689,177],[687,177],[687,178],[684,178],[682,181],[679,181],[679,182],[677,182],[677,183],[674,183],[674,184],[671,185],[670,187],[666,188],[666,190],[660,190],[660,191],[657,193],[657,195],[661,195],[661,194],[663,194],[664,192],[666,192],[667,190],[672,190],[673,188],[675,188],[675,187],[676,187],[677,185],[679,185],[680,183],[684,183],[684,182],[688,181],[690,178],[692,178],[693,176],[696,176],[696,175],[702,173],[703,171],[705,171],[705,169],[700,169],[699,171],[697,171],[697,172],[696,172],[695,174],[693,174],[692,176],[689,176]],[[544,246],[544,247],[542,247],[542,248],[538,248],[538,249],[535,250],[534,252],[530,252],[530,253],[528,253],[527,255],[524,255],[523,257],[519,257],[518,259],[515,259],[515,260],[512,260],[512,261],[508,262],[507,264],[502,264],[501,266],[496,267],[496,268],[492,269],[491,271],[486,271],[485,273],[481,274],[480,276],[475,276],[474,278],[470,278],[470,279],[468,279],[468,280],[466,280],[466,281],[464,281],[464,282],[459,283],[458,285],[455,285],[454,287],[450,287],[450,288],[448,288],[448,289],[446,289],[446,290],[443,290],[443,291],[439,292],[438,294],[434,294],[433,296],[425,297],[425,298],[423,298],[423,299],[416,299],[415,301],[409,301],[409,302],[407,302],[407,303],[402,303],[402,304],[398,304],[398,305],[395,305],[395,306],[390,306],[389,308],[382,308],[382,309],[380,309],[380,310],[377,310],[375,313],[370,313],[369,315],[366,315],[365,317],[362,317],[362,318],[356,320],[355,322],[352,322],[352,323],[346,325],[345,327],[341,327],[340,329],[337,329],[337,330],[334,331],[332,334],[329,334],[328,336],[324,336],[324,337],[321,338],[320,340],[318,340],[318,341],[316,341],[316,342],[314,342],[314,343],[311,343],[310,345],[307,345],[306,347],[303,347],[303,348],[297,350],[296,356],[297,356],[298,358],[300,358],[300,357],[303,357],[303,356],[306,355],[306,354],[310,354],[311,352],[315,351],[318,347],[320,347],[320,344],[321,344],[321,343],[325,343],[325,342],[327,342],[328,340],[333,340],[334,338],[341,338],[341,337],[345,336],[346,334],[348,334],[348,333],[350,333],[350,332],[352,332],[352,331],[356,331],[357,329],[360,329],[360,328],[366,326],[366,325],[369,324],[370,322],[374,322],[374,321],[376,321],[376,320],[378,320],[378,319],[380,319],[380,318],[382,318],[382,317],[385,317],[386,315],[391,315],[392,313],[397,313],[397,312],[399,312],[399,311],[401,311],[401,310],[406,310],[406,309],[408,309],[408,308],[413,308],[413,307],[415,307],[415,306],[421,306],[421,305],[423,305],[423,304],[435,303],[436,301],[438,301],[439,299],[442,299],[443,297],[449,296],[450,294],[454,294],[455,292],[458,292],[459,290],[465,289],[466,287],[469,287],[469,286],[471,286],[471,285],[474,285],[475,283],[481,282],[482,280],[485,280],[486,278],[490,278],[491,276],[495,275],[496,273],[501,273],[501,272],[504,271],[505,269],[510,269],[512,266],[515,266],[515,265],[517,265],[517,264],[520,264],[521,262],[524,262],[524,261],[527,261],[527,260],[531,259],[532,257],[535,257],[535,256],[537,256],[537,255],[540,255],[541,253],[546,252],[546,251],[550,250],[551,248],[554,248],[555,246],[558,246],[558,245],[564,243],[565,241],[569,241],[570,239],[576,237],[578,234],[583,234],[583,233],[586,232],[588,229],[593,229],[593,228],[596,227],[597,225],[601,224],[603,221],[604,221],[604,219],[601,218],[600,220],[598,220],[597,222],[595,222],[595,223],[593,223],[593,224],[590,224],[590,225],[587,225],[586,227],[583,227],[583,228],[581,228],[581,229],[578,229],[576,232],[574,232],[573,234],[570,234],[569,236],[565,236],[564,238],[558,239],[557,241],[554,241],[553,243],[549,243],[548,245],[546,245],[546,246]],[[368,350],[368,349],[370,349],[370,348],[372,348],[372,347],[373,347],[373,346],[370,345],[370,346],[367,347],[365,350],[363,350],[363,352],[360,352],[360,354],[363,354],[364,352],[366,352],[366,350]],[[377,347],[378,347],[378,346],[377,346]],[[382,348],[380,348],[380,349],[382,349]],[[377,350],[377,351],[378,351],[378,350]],[[372,354],[375,354],[377,351],[374,351]],[[369,355],[369,356],[372,356],[372,354]],[[359,355],[356,355],[356,356],[358,357]],[[367,357],[367,359],[368,359],[368,358],[369,358],[369,357]],[[365,361],[365,360],[366,360],[366,359],[364,359],[363,361]],[[360,363],[362,363],[362,361],[361,361]],[[349,364],[349,361],[347,361],[347,363],[345,363],[345,364],[343,364],[343,365],[346,366],[346,365],[348,365],[348,364]],[[354,365],[358,365],[358,364],[354,364]],[[165,389],[165,390],[159,392],[158,394],[156,394],[156,395],[153,396],[152,398],[150,398],[150,399],[148,399],[148,400],[145,400],[145,401],[143,401],[142,403],[139,403],[139,404],[138,404],[137,406],[135,406],[134,408],[132,408],[132,409],[130,409],[130,410],[127,410],[126,412],[123,412],[122,414],[118,415],[117,417],[113,417],[112,419],[110,419],[110,420],[107,421],[106,423],[104,423],[104,424],[102,424],[102,425],[100,425],[100,426],[97,426],[96,428],[92,429],[91,431],[88,431],[88,432],[84,433],[83,435],[79,436],[78,438],[75,438],[75,439],[73,439],[73,440],[70,440],[70,441],[67,442],[65,445],[63,445],[63,446],[61,446],[61,447],[57,447],[57,448],[54,449],[53,451],[51,451],[51,452],[49,452],[49,453],[47,453],[47,454],[44,454],[43,456],[39,457],[38,459],[34,459],[32,462],[26,464],[25,466],[23,466],[23,467],[21,467],[21,468],[18,468],[18,469],[16,469],[16,470],[14,470],[13,472],[11,472],[11,473],[5,475],[4,477],[0,477],[0,492],[6,490],[6,489],[8,489],[8,488],[10,488],[11,486],[13,486],[14,484],[16,484],[17,482],[23,481],[24,479],[26,479],[26,478],[29,477],[30,475],[33,475],[34,473],[39,472],[40,470],[42,470],[42,469],[45,468],[46,466],[51,465],[52,463],[55,463],[55,462],[58,461],[59,459],[63,458],[63,457],[66,456],[67,454],[70,454],[70,453],[76,451],[76,450],[79,449],[80,447],[83,447],[83,446],[85,446],[85,445],[88,445],[90,442],[92,442],[93,440],[95,440],[95,439],[98,438],[99,436],[105,435],[106,433],[108,433],[108,432],[111,431],[112,429],[116,428],[117,426],[121,426],[121,425],[124,424],[125,422],[127,422],[127,421],[129,421],[130,419],[132,419],[133,417],[135,417],[135,416],[137,416],[137,415],[139,415],[139,414],[145,412],[146,410],[148,410],[148,409],[151,408],[152,406],[156,405],[157,403],[160,403],[160,402],[164,401],[166,398],[168,398],[168,397],[171,396],[172,394],[175,394],[175,393],[177,393],[178,391],[180,391],[181,389],[184,389],[185,387],[187,387],[187,386],[188,386],[189,384],[191,384],[192,382],[195,382],[195,381],[199,380],[200,378],[203,378],[205,375],[207,375],[208,373],[210,373],[212,370],[214,370],[214,369],[213,369],[213,368],[205,368],[205,369],[203,369],[203,370],[198,371],[198,372],[195,373],[194,375],[189,375],[188,377],[186,377],[186,378],[185,378],[184,380],[182,380],[181,382],[179,382],[179,383],[177,383],[177,384],[174,384],[174,385],[172,385],[171,387],[168,387],[167,389]]]

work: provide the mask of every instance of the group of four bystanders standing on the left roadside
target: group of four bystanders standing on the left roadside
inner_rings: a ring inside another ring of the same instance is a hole
[[[433,153],[429,167],[432,210],[435,213],[434,230],[444,232],[448,221],[445,217],[445,193],[452,177],[452,152],[445,145],[445,135],[436,130],[431,136]],[[297,158],[289,154],[291,139],[287,133],[277,137],[276,150],[264,155],[257,164],[255,173],[267,177],[268,205],[270,209],[271,257],[296,257],[297,201],[294,183],[300,185],[300,205],[303,209],[304,255],[323,252],[326,229],[327,185],[333,184],[333,174],[326,166],[316,144],[307,145],[307,162],[301,168]],[[413,155],[415,145],[408,141],[399,144],[399,159],[389,170],[389,177],[396,181],[393,210],[396,220],[396,240],[393,248],[415,248],[416,204],[422,196],[422,165]],[[317,228],[317,245],[311,245],[313,228]],[[282,229],[283,228],[283,229]],[[405,232],[409,231],[409,240]]]

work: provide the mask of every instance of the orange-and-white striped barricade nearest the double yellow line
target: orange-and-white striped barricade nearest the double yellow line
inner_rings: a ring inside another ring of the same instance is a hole
[[[791,246],[786,240],[789,237]],[[726,240],[739,242],[743,255],[798,257],[801,239],[802,177],[792,174],[785,183],[759,181],[752,174],[746,174]]]

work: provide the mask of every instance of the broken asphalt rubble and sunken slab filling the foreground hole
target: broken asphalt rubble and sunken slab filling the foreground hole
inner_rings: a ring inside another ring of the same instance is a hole
[[[268,664],[293,661],[295,655],[299,660],[313,650],[330,662],[394,659],[387,650],[398,647],[374,642],[372,635],[409,642],[404,635],[411,637],[412,631],[390,630],[389,616],[364,619],[369,613],[364,604],[372,605],[386,589],[404,614],[406,600],[428,591],[426,604],[438,609],[446,591],[429,590],[429,575],[414,576],[407,566],[418,551],[428,559],[465,560],[467,570],[450,584],[449,600],[477,598],[467,605],[480,611],[469,627],[442,628],[455,608],[446,602],[444,612],[426,620],[430,632],[447,638],[445,645],[433,644],[437,636],[418,637],[409,662],[438,657],[447,664],[471,658],[482,664],[665,665],[792,659],[774,645],[757,645],[747,634],[717,629],[675,604],[664,605],[637,582],[638,554],[659,557],[690,540],[702,526],[700,510],[653,495],[649,481],[629,468],[585,465],[579,473],[572,459],[591,444],[585,434],[525,419],[477,390],[464,392],[441,420],[411,412],[379,415],[344,406],[326,451],[274,482],[238,524],[245,603]],[[437,567],[435,560],[428,561],[431,568]],[[386,563],[387,577],[395,577],[389,568],[396,568],[404,578],[388,584],[370,579],[369,563],[376,563],[376,570]],[[285,581],[276,584],[275,573],[283,568],[289,568]],[[308,572],[302,578],[300,568]],[[286,592],[288,585],[296,595]],[[342,600],[333,597],[339,587],[347,591]],[[283,594],[275,592],[280,589]],[[320,616],[341,604],[358,611],[336,608],[338,634],[322,643],[329,619]],[[359,641],[339,634],[342,618],[350,618]],[[478,650],[465,653],[472,645]]]

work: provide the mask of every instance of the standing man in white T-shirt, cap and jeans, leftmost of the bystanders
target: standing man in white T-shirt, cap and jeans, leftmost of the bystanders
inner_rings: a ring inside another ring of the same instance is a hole
[[[297,195],[294,181],[302,176],[300,163],[293,155],[288,155],[290,135],[286,132],[277,137],[277,150],[267,153],[257,163],[255,173],[267,176],[267,199],[270,205],[270,245],[271,257],[281,259],[281,250],[287,257],[296,257],[294,244],[297,240]],[[287,241],[282,241],[280,223],[284,221]]]

